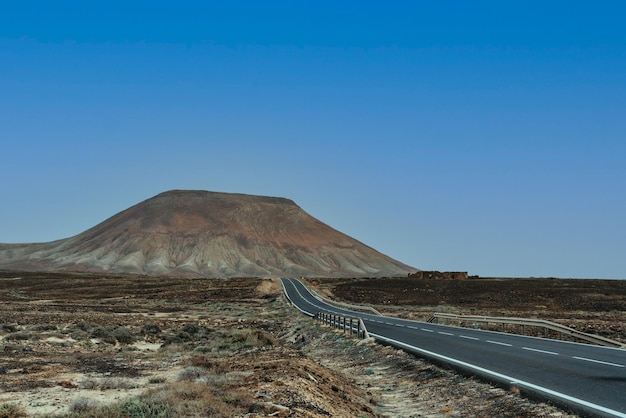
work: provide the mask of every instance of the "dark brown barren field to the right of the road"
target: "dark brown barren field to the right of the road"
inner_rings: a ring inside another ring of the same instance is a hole
[[[325,294],[426,320],[433,312],[545,319],[626,343],[626,280],[317,280]]]

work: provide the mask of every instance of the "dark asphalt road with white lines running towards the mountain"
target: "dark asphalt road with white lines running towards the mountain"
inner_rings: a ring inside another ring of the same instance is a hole
[[[436,325],[329,305],[296,279],[281,279],[301,312],[359,317],[377,340],[450,364],[587,416],[626,418],[626,350]]]

